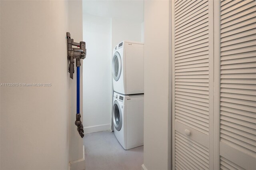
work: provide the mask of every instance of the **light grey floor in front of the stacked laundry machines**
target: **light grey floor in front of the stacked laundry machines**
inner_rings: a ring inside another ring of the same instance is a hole
[[[85,170],[141,170],[143,146],[124,150],[114,132],[103,131],[84,137]]]

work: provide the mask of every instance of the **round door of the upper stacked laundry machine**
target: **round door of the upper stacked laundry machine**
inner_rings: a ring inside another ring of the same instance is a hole
[[[122,61],[120,54],[116,51],[112,59],[112,76],[115,81],[118,81],[122,71]]]

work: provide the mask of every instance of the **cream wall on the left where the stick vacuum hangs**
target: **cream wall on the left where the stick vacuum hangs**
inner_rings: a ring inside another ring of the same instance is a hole
[[[73,25],[82,23],[77,8],[82,2],[0,3],[1,83],[52,83],[0,88],[0,168],[68,169],[83,151],[74,125],[76,98],[70,93],[76,86],[67,73],[65,36],[70,31],[75,41],[82,40],[82,24]]]

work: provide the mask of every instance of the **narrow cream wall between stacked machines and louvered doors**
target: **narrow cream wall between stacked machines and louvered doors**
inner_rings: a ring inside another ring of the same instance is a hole
[[[144,164],[170,169],[169,1],[144,1]]]

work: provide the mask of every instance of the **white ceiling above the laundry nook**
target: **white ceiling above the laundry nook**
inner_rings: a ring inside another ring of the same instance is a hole
[[[144,21],[143,0],[83,0],[83,13],[94,16]]]

